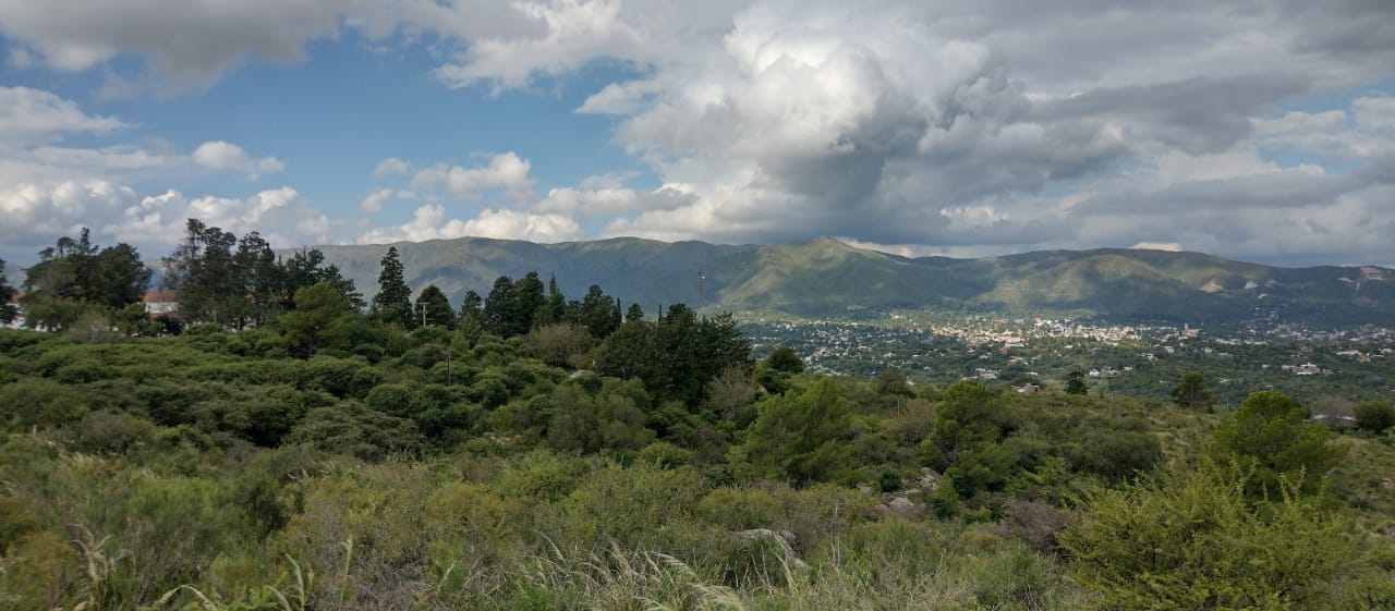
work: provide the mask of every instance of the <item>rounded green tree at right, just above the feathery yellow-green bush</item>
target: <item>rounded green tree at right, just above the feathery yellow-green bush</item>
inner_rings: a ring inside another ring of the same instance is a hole
[[[1216,427],[1215,451],[1222,463],[1235,456],[1253,465],[1254,477],[1249,484],[1254,494],[1278,492],[1281,480],[1303,492],[1315,492],[1324,474],[1346,455],[1346,448],[1331,444],[1325,427],[1304,424],[1303,416],[1303,407],[1288,395],[1251,393]]]

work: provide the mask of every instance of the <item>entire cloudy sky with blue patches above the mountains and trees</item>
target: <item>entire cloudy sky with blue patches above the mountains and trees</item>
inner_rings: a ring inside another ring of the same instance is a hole
[[[188,218],[1392,265],[1395,1],[0,0],[11,272]]]

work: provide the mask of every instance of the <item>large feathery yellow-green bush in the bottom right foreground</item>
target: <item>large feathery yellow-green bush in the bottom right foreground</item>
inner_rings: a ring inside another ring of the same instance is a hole
[[[1205,465],[1087,499],[1060,534],[1105,608],[1322,610],[1355,562],[1346,523],[1276,490],[1254,508],[1246,477]]]

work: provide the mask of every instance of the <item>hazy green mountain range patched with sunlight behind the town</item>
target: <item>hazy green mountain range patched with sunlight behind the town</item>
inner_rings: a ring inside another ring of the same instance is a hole
[[[610,239],[536,244],[462,237],[396,243],[407,283],[437,285],[459,304],[495,278],[530,271],[578,299],[600,285],[646,311],[699,308],[829,317],[944,308],[1159,321],[1253,319],[1278,314],[1314,324],[1395,322],[1395,271],[1381,266],[1279,268],[1201,252],[1038,251],[986,258],[898,257],[833,239],[753,246]],[[319,246],[367,296],[388,246]]]

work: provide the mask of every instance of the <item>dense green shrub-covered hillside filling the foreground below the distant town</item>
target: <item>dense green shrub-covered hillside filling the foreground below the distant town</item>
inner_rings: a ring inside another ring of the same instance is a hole
[[[1384,403],[1334,432],[1272,392],[820,377],[536,275],[386,293],[0,331],[0,608],[1395,605]]]

